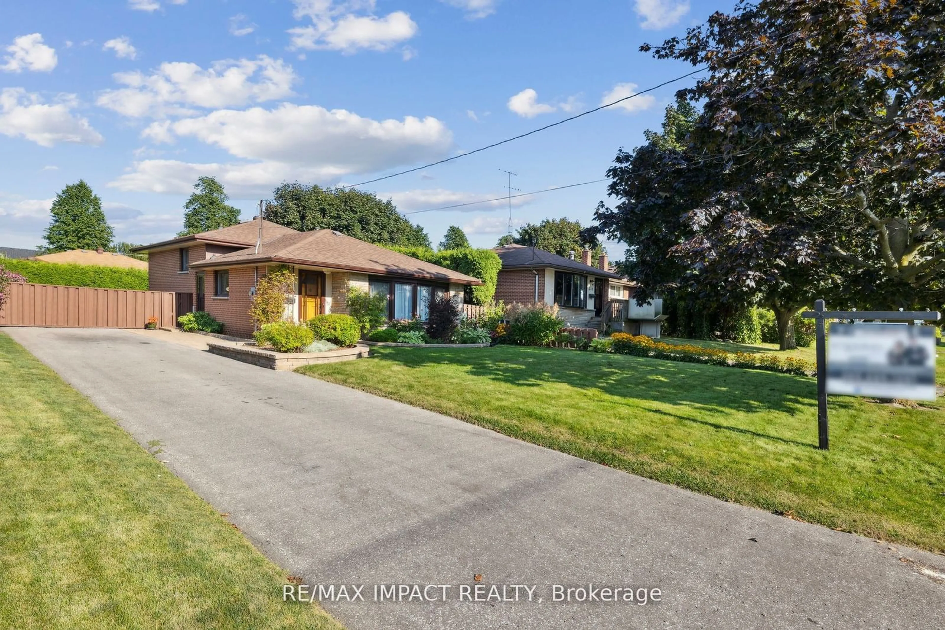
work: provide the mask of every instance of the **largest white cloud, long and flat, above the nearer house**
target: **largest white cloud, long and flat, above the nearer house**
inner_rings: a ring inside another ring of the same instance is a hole
[[[281,181],[336,183],[353,174],[436,160],[449,153],[453,134],[436,118],[377,121],[344,110],[284,103],[275,110],[221,110],[163,121],[149,138],[193,137],[228,151],[223,163],[135,162],[109,183],[123,191],[185,194],[200,176],[219,179],[233,196],[266,195]]]

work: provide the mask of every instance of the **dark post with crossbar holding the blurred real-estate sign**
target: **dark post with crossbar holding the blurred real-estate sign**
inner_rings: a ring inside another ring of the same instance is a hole
[[[919,321],[938,321],[939,315],[936,312],[919,312],[919,313],[909,313],[902,311],[827,311],[827,307],[824,304],[824,300],[818,299],[814,302],[813,311],[804,311],[800,316],[805,319],[814,319],[816,323],[816,356],[817,356],[817,447],[823,451],[826,451],[830,447],[830,424],[827,417],[827,389],[828,389],[828,376],[827,376],[827,320],[828,319],[850,319],[850,320],[864,320],[864,319],[881,319],[887,322],[909,322],[915,323]],[[896,328],[892,326],[890,328]],[[856,326],[856,329],[859,330],[860,326]],[[852,330],[852,329],[851,329]],[[863,330],[868,330],[868,327],[864,326]],[[882,332],[882,331],[880,331]],[[882,336],[882,334],[880,335]],[[901,335],[902,336],[902,335]],[[908,337],[908,335],[905,335]],[[933,337],[934,338],[934,337]],[[896,342],[897,346],[902,346],[902,342]],[[902,349],[896,348],[900,351],[901,354],[890,353],[890,356],[904,356]],[[928,361],[923,359],[924,364],[928,364]],[[932,397],[935,397],[935,352],[933,351],[931,356],[931,383],[932,383]],[[916,374],[919,374],[921,367],[919,368],[903,368],[901,367],[902,361],[893,362],[890,360],[890,365],[881,367],[873,367],[872,369],[864,368],[863,369],[863,378],[872,378],[873,382],[864,381],[862,386],[862,393],[868,394],[870,387],[876,386],[885,386],[888,387],[889,375],[893,374],[898,376],[898,372],[902,371],[905,373],[903,378],[912,379]],[[879,382],[876,380],[876,372],[881,372],[880,376],[885,377],[886,383],[882,383],[882,379]],[[919,378],[921,378],[919,374]],[[878,385],[877,383],[880,383]],[[837,391],[834,389],[833,393],[841,394],[853,394],[858,395],[861,393],[861,387],[856,387],[851,391],[840,390]]]

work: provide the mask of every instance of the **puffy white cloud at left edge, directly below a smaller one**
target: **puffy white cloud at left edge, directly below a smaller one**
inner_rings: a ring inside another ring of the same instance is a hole
[[[60,94],[57,102],[47,104],[39,94],[23,88],[4,88],[0,92],[0,133],[11,138],[22,136],[41,146],[101,145],[104,138],[89,121],[73,115],[76,106],[75,94]]]

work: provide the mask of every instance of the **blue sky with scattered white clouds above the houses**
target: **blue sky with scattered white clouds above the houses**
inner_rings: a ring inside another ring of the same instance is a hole
[[[641,43],[715,9],[686,0],[111,0],[0,8],[0,246],[42,242],[86,179],[118,240],[181,229],[198,176],[249,219],[283,180],[352,184],[502,140],[690,67]],[[695,78],[687,79],[688,81]],[[417,211],[602,179],[685,83],[490,151],[365,187],[434,244],[507,230],[505,203]],[[516,225],[590,224],[606,183],[516,200]],[[622,247],[609,245],[612,255]]]

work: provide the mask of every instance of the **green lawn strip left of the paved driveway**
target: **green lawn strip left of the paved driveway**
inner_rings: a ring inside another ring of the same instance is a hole
[[[0,627],[340,627],[5,334],[0,383]]]

